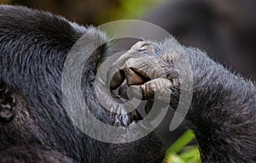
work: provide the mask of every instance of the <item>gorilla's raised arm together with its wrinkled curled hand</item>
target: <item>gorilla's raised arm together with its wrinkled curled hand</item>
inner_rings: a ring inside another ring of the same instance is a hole
[[[113,63],[112,70],[119,70],[115,76],[123,77],[114,78],[111,87],[117,87],[126,79],[135,97],[141,94],[144,99],[154,100],[157,92],[171,94],[170,104],[176,109],[179,70],[172,61],[183,59],[177,53],[186,56],[193,73],[193,98],[185,118],[195,131],[201,160],[255,162],[255,86],[209,59],[206,53],[185,48],[173,38],[160,43],[137,42]],[[166,100],[161,96],[157,98]]]

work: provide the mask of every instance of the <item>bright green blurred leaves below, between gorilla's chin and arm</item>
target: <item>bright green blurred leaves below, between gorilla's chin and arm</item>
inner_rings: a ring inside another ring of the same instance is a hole
[[[194,132],[188,130],[166,151],[166,163],[201,163],[197,145],[188,145],[195,139]]]

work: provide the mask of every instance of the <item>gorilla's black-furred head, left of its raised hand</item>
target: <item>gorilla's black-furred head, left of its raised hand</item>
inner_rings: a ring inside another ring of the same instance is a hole
[[[0,79],[13,90],[10,96],[18,93],[17,97],[25,101],[15,108],[27,110],[17,111],[12,120],[1,123],[0,147],[41,145],[77,162],[161,162],[164,150],[155,132],[132,143],[102,143],[86,136],[67,115],[61,97],[61,71],[67,53],[87,31],[49,13],[0,6]],[[107,42],[100,31],[90,28],[90,32],[95,39]],[[99,54],[99,59],[93,57]],[[84,98],[90,111],[113,124],[117,120],[96,101],[93,82],[97,63],[108,54],[107,44],[92,54],[90,65],[84,67],[89,73],[84,75],[82,89],[86,90]],[[20,116],[24,117],[22,121],[15,121]]]

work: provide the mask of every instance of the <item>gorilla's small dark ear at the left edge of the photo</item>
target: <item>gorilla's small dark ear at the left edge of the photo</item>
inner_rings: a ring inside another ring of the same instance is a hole
[[[9,87],[0,82],[0,123],[11,121],[15,116],[15,96]]]

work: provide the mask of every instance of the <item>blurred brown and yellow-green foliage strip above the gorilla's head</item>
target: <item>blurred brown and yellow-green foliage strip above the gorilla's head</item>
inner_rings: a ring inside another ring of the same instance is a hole
[[[112,20],[141,19],[167,0],[0,0],[61,14],[79,24],[101,25]]]

